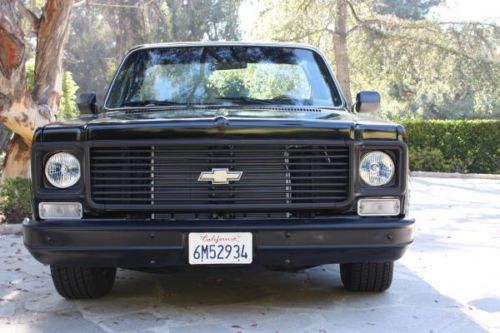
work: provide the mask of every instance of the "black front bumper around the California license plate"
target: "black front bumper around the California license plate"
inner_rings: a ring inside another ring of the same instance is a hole
[[[188,265],[190,232],[252,232],[253,263],[316,266],[399,259],[413,219],[267,221],[27,221],[24,243],[44,264],[123,268]]]

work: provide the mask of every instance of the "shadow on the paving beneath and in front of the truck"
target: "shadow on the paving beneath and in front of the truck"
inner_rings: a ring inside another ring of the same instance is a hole
[[[66,301],[51,288],[43,288],[51,293],[44,308],[31,307],[42,320],[21,310],[15,321],[30,332],[51,333],[67,333],[69,327],[73,332],[485,331],[459,303],[403,265],[397,265],[393,287],[381,294],[343,290],[337,265],[300,273],[251,267],[172,274],[121,270],[113,292],[92,301]],[[21,298],[29,302],[36,292]]]

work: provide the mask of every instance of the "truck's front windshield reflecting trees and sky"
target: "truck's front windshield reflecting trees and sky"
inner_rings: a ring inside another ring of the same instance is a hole
[[[322,58],[300,48],[169,47],[133,52],[107,108],[273,104],[335,107],[340,95]]]

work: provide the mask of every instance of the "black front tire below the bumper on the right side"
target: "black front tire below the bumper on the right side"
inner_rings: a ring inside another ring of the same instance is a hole
[[[382,292],[391,286],[394,262],[340,264],[340,277],[349,291]]]

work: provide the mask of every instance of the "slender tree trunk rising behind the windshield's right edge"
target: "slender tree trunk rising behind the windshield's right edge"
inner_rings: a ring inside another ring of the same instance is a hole
[[[349,56],[347,53],[347,0],[336,1],[335,33],[333,35],[337,79],[344,92],[347,104],[352,104],[351,81],[349,79]]]

